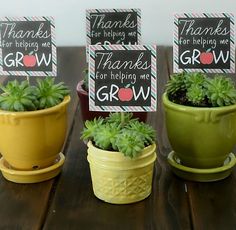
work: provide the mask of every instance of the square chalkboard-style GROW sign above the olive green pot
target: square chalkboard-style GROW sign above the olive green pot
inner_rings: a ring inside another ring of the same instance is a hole
[[[174,72],[235,72],[232,14],[176,14]]]

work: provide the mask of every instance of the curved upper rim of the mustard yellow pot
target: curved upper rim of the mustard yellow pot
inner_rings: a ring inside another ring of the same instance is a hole
[[[57,104],[53,107],[46,108],[46,109],[40,109],[40,110],[35,110],[35,111],[23,111],[23,112],[17,112],[17,111],[5,111],[5,110],[0,110],[0,116],[14,116],[14,117],[30,117],[30,116],[38,116],[42,114],[50,114],[55,111],[58,111],[61,107],[64,107],[66,104],[70,102],[70,95],[67,95],[64,97],[63,101],[60,104]]]

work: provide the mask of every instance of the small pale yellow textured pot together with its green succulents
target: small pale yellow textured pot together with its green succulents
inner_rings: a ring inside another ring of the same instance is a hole
[[[155,131],[130,113],[111,113],[85,122],[95,196],[113,204],[148,197],[156,159]]]

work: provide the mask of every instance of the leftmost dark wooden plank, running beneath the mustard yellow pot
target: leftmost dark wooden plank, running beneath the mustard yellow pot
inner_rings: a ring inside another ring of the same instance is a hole
[[[70,133],[74,113],[78,104],[75,84],[78,79],[78,72],[83,68],[85,58],[83,55],[81,56],[81,51],[83,54],[83,48],[58,49],[59,77],[57,81],[63,80],[72,88],[72,101],[69,106],[68,117],[68,134]],[[41,229],[54,181],[55,179],[37,184],[15,184],[6,181],[1,175],[0,229]]]

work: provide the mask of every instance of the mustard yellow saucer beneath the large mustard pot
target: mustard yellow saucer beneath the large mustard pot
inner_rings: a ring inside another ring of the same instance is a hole
[[[0,170],[2,171],[5,179],[15,183],[37,183],[45,180],[49,180],[57,176],[61,167],[65,161],[65,156],[59,153],[55,163],[47,168],[35,169],[35,170],[16,170],[11,169],[9,164],[2,157],[0,159]]]

